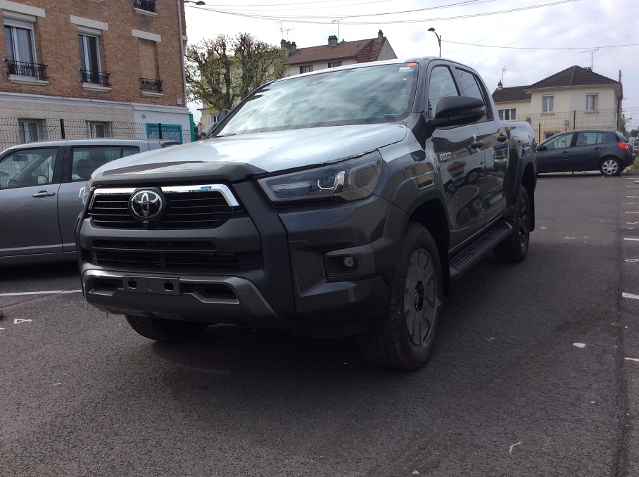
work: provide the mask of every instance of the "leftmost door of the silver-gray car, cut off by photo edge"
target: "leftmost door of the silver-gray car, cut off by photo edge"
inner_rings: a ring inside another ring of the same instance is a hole
[[[60,148],[21,148],[0,158],[0,257],[62,251]]]

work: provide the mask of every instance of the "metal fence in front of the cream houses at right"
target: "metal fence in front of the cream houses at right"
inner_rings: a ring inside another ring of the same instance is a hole
[[[639,123],[639,108],[623,108],[621,115],[616,109],[596,111],[573,110],[557,113],[517,115],[517,121],[530,122],[537,141],[573,129],[618,129],[626,138]],[[633,127],[634,125],[634,127]]]

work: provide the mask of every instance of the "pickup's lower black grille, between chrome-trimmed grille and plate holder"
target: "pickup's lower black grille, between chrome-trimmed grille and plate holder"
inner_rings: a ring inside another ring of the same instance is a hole
[[[230,274],[261,269],[260,250],[218,253],[215,243],[200,241],[94,240],[83,250],[91,265],[148,272]]]

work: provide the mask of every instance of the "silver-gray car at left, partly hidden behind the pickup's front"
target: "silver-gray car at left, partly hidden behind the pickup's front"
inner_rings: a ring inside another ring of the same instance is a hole
[[[0,153],[0,265],[75,260],[80,189],[110,160],[179,144],[154,139],[72,139]]]

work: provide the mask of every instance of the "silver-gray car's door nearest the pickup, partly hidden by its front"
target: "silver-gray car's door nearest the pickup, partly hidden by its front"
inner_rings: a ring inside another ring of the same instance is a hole
[[[75,222],[83,207],[80,189],[87,185],[91,174],[101,165],[139,152],[139,146],[67,146],[58,198],[60,235],[65,252],[75,250]]]

